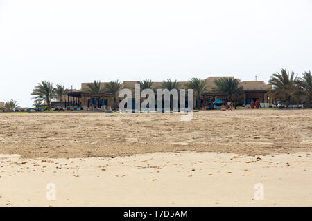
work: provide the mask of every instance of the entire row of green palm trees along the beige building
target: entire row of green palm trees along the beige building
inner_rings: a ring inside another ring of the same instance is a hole
[[[150,79],[144,79],[138,82],[141,90],[152,89],[153,82]],[[305,104],[306,106],[312,107],[312,75],[311,71],[304,72],[302,77],[298,77],[294,72],[289,72],[286,69],[281,69],[280,72],[274,73],[270,76],[269,84],[272,84],[272,90],[269,91],[270,98],[279,101],[282,104]],[[214,81],[216,85],[212,88],[211,92],[223,94],[223,99],[227,102],[235,102],[242,99],[244,95],[243,86],[241,86],[239,79],[234,78],[220,78]],[[161,87],[164,89],[180,89],[180,83],[177,80],[166,79],[162,81]],[[199,79],[193,77],[187,81],[185,86],[189,89],[194,90],[194,96],[196,97],[197,108],[201,106],[202,93],[207,91],[207,82],[205,79]],[[85,93],[89,93],[97,99],[99,102],[101,93],[110,93],[114,100],[114,108],[118,106],[117,100],[119,91],[122,88],[120,81],[110,81],[105,83],[104,86],[101,81],[94,81],[93,83],[87,84],[84,88]],[[41,81],[35,88],[31,95],[32,99],[35,99],[33,106],[40,106],[42,102],[46,102],[48,108],[51,107],[51,100],[58,99],[60,102],[63,101],[64,95],[69,92],[69,89],[64,86],[57,84],[53,87],[50,81]],[[12,111],[18,106],[15,100],[10,99],[6,102],[4,108],[7,111]]]

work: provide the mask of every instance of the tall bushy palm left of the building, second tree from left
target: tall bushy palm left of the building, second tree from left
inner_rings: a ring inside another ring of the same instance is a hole
[[[51,100],[55,97],[55,91],[53,84],[49,81],[42,81],[38,83],[37,86],[33,89],[31,95],[35,96],[32,99],[35,99],[38,102],[46,102],[48,104],[49,111],[51,111]]]

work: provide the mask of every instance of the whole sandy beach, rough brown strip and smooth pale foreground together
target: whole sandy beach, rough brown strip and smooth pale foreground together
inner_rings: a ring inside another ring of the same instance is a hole
[[[312,206],[311,110],[201,111],[191,122],[1,113],[0,124],[0,206]]]

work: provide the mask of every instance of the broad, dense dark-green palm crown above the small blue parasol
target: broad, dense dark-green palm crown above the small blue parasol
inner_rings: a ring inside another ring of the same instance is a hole
[[[214,84],[216,84],[214,91],[224,93],[225,99],[230,102],[233,102],[233,99],[239,99],[244,93],[243,86],[240,85],[238,79],[223,77],[214,80]]]

